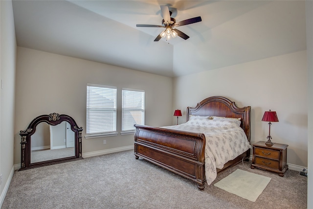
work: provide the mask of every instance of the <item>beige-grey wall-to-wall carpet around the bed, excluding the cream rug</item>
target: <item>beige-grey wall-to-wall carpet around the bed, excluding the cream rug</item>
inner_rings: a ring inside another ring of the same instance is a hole
[[[271,178],[255,202],[216,182],[236,169]],[[288,169],[251,169],[251,161],[197,184],[141,158],[134,150],[15,171],[1,209],[307,209],[307,177]]]

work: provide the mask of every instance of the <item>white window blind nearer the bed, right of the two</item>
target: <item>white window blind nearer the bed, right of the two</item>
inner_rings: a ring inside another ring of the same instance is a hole
[[[145,123],[145,92],[122,89],[122,132],[135,130],[134,124]]]

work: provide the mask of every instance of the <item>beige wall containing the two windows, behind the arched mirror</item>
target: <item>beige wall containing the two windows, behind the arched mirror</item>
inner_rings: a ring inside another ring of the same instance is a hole
[[[36,116],[54,112],[72,116],[83,127],[83,156],[133,146],[134,135],[84,138],[87,83],[117,87],[117,132],[120,132],[123,87],[145,90],[146,125],[172,125],[172,82],[169,77],[18,47],[14,163],[21,162],[20,131]]]

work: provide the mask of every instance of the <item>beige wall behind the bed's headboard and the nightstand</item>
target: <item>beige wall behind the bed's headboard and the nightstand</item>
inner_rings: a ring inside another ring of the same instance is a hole
[[[272,141],[288,144],[287,163],[308,166],[308,98],[306,51],[208,70],[174,79],[173,109],[196,106],[202,99],[220,95],[237,106],[251,106],[251,143],[267,140],[265,111],[277,112]]]

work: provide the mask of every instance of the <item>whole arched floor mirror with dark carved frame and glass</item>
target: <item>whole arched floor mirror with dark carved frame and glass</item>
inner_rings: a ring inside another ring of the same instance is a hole
[[[36,117],[20,132],[20,170],[83,159],[82,131],[67,115]]]

